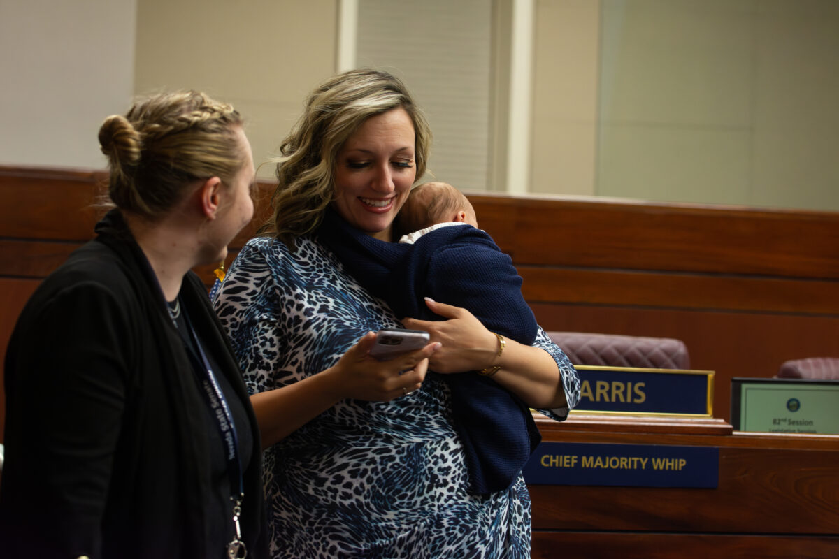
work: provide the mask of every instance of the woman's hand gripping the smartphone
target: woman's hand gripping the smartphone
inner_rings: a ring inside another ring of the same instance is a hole
[[[323,372],[334,377],[336,399],[354,398],[365,401],[391,401],[418,390],[425,380],[430,355],[440,348],[430,343],[422,349],[379,361],[370,356],[376,334],[368,332],[347,349],[336,365]]]

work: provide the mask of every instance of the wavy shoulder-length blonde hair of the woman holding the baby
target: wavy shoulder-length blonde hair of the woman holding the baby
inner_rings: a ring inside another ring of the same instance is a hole
[[[294,250],[294,239],[314,231],[335,198],[335,163],[341,147],[368,118],[403,108],[414,124],[416,179],[425,174],[431,130],[401,80],[381,70],[350,70],[312,91],[303,115],[280,145],[274,215],[259,235]]]

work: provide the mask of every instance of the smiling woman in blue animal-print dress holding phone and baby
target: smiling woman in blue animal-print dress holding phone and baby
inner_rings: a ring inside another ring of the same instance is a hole
[[[524,480],[469,491],[450,393],[425,374],[492,368],[493,381],[561,417],[579,397],[575,370],[541,331],[534,345],[502,344],[471,313],[434,302],[448,320],[394,316],[323,243],[336,220],[393,241],[429,148],[425,118],[393,75],[326,80],[282,144],[274,218],[216,300],[268,447],[274,557],[529,556]],[[403,325],[431,343],[373,360],[370,331]]]

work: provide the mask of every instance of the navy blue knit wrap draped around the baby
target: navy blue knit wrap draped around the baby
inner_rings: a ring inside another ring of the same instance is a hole
[[[493,332],[522,344],[534,341],[538,326],[521,298],[521,278],[509,256],[481,230],[457,225],[426,234],[414,245],[390,243],[362,233],[329,209],[317,236],[399,318],[443,320],[425,306],[423,298],[430,297],[467,308]],[[456,273],[435,277],[441,274],[429,263],[432,256],[440,260],[441,249],[446,249],[442,258],[456,260],[446,262]],[[478,494],[508,489],[541,440],[529,407],[476,372],[440,377],[451,389],[470,489]]]

